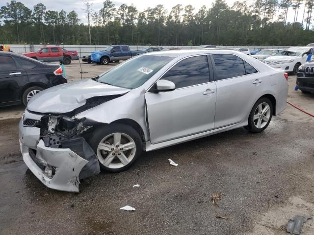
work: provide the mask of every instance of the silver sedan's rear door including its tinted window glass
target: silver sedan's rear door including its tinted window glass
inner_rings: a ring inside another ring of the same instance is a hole
[[[233,54],[212,54],[217,86],[215,129],[243,121],[266,78],[246,61]]]

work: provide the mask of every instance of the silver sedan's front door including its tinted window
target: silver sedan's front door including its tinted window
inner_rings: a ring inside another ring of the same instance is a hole
[[[207,55],[188,57],[160,78],[173,82],[174,91],[145,94],[153,144],[214,128],[216,85],[209,74]]]

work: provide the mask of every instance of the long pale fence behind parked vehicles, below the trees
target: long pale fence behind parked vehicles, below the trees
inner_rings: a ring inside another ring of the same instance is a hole
[[[29,45],[29,44],[25,44],[25,45],[20,45],[20,44],[15,44],[15,45],[9,45],[11,50],[13,52],[16,53],[25,53],[25,52],[32,52],[35,51],[37,49],[39,49],[40,47],[43,47],[43,45]],[[49,47],[52,47],[54,45],[47,45]],[[56,45],[56,46],[60,46],[63,47],[67,50],[76,50],[78,51],[78,56],[82,57],[84,55],[89,55],[92,51],[95,50],[102,50],[105,49],[105,47],[108,47],[107,45]],[[140,50],[144,47],[148,47],[148,46],[130,46],[131,50]],[[150,46],[150,47],[154,47],[154,46]],[[164,48],[167,47],[174,47],[174,46],[162,46]],[[184,48],[184,49],[192,49],[192,48],[196,48],[197,46],[176,46],[179,48]],[[218,47],[228,47],[228,48],[234,48],[234,47],[243,47],[243,46],[218,46]],[[276,47],[276,46],[249,46],[248,48],[250,50],[254,50],[257,48],[263,48],[263,49],[268,49],[268,48],[278,48],[278,49],[284,49],[284,48],[288,48],[290,46],[280,46],[280,47]]]

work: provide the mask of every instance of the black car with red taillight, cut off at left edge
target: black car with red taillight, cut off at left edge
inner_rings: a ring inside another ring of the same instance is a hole
[[[12,52],[0,52],[0,106],[28,101],[42,90],[66,83],[58,64],[44,64]]]

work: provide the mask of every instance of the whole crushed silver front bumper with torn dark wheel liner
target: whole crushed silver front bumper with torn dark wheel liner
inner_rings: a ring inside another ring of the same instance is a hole
[[[80,179],[100,172],[94,151],[83,138],[67,141],[65,148],[45,146],[44,141],[39,140],[40,128],[25,126],[27,119],[40,120],[41,117],[26,111],[24,122],[20,121],[20,150],[25,164],[48,188],[79,192]]]

